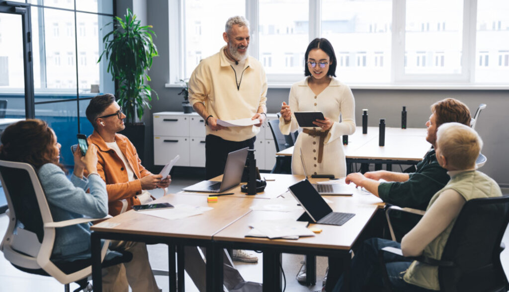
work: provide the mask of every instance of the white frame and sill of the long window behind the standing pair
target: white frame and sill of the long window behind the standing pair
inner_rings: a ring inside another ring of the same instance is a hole
[[[185,0],[168,0],[169,1],[169,27],[177,27],[177,29],[169,30],[169,83],[166,87],[181,86],[179,80],[188,76],[183,76],[185,68],[185,58],[181,57],[185,54]],[[389,58],[384,58],[384,63],[389,61],[390,81],[389,82],[365,82],[351,84],[352,88],[359,89],[483,89],[483,90],[500,90],[509,89],[509,84],[496,83],[476,83],[476,34],[477,34],[477,0],[463,0],[463,30],[462,30],[462,56],[461,56],[461,72],[457,74],[415,74],[405,73],[405,21],[406,21],[406,2],[407,0],[392,0],[392,28],[391,28],[391,51]],[[259,0],[245,0],[246,18],[250,22],[251,44],[249,54],[257,60],[262,60],[259,50]],[[309,41],[320,37],[321,35],[321,0],[309,0]],[[177,9],[175,9],[177,8]],[[474,19],[475,21],[470,21]],[[434,25],[434,23],[432,23]],[[439,22],[442,27],[445,25]],[[263,27],[262,27],[263,29]],[[443,29],[443,28],[442,28]],[[435,64],[435,54],[429,62]],[[357,62],[355,55],[349,57],[350,65]],[[427,60],[430,57],[426,58]],[[490,58],[492,59],[492,58]],[[408,62],[415,60],[408,59]],[[493,61],[493,60],[491,60]],[[495,60],[495,61],[498,61]],[[366,61],[370,63],[370,60]],[[373,60],[374,62],[374,60]],[[297,63],[299,61],[297,60]],[[498,63],[498,62],[497,62]],[[441,67],[441,66],[438,66]],[[503,66],[501,66],[503,67]],[[272,88],[288,88],[296,80],[302,79],[303,74],[267,74],[269,86]]]

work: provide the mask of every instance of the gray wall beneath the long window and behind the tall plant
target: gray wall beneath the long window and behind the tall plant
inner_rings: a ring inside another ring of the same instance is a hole
[[[132,0],[139,6],[146,3],[147,24],[154,26],[157,34],[155,43],[159,50],[159,56],[154,59],[154,65],[150,70],[152,78],[151,86],[159,94],[159,100],[152,102],[152,110],[147,110],[143,121],[147,125],[146,152],[144,165],[153,166],[153,139],[152,139],[152,112],[181,111],[182,97],[177,94],[178,88],[165,88],[169,80],[168,66],[168,1],[157,0]],[[118,0],[117,10],[125,5],[132,5],[132,1]],[[136,11],[134,11],[136,14]],[[219,49],[219,48],[218,48]],[[508,76],[509,78],[509,76]],[[296,80],[298,81],[298,80]],[[268,111],[278,112],[282,101],[288,101],[289,89],[269,89]],[[445,97],[454,97],[465,102],[472,112],[475,112],[480,103],[486,103],[488,107],[480,115],[476,130],[484,140],[483,154],[488,157],[486,165],[481,169],[499,184],[509,186],[509,176],[505,166],[509,165],[507,144],[509,143],[509,91],[457,91],[457,90],[353,90],[356,102],[356,122],[361,124],[362,108],[369,109],[369,124],[377,126],[378,119],[385,118],[388,127],[400,127],[402,106],[407,106],[408,127],[423,128],[431,114],[430,105]],[[426,143],[426,141],[422,141]]]

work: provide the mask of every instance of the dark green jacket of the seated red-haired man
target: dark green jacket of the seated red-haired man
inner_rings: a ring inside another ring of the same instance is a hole
[[[409,173],[409,176],[408,181],[403,183],[380,183],[380,198],[402,208],[426,210],[431,197],[449,181],[447,170],[438,164],[434,149],[426,154],[417,164],[417,171]]]

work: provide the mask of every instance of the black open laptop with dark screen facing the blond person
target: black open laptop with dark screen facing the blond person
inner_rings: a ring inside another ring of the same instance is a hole
[[[320,196],[313,185],[307,180],[300,181],[288,188],[299,201],[311,221],[327,225],[343,225],[355,214],[332,212],[325,200]]]

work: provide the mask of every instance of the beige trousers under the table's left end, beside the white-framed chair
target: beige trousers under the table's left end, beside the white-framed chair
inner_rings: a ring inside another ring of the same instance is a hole
[[[131,286],[132,292],[159,292],[145,243],[112,241],[109,248],[129,251],[132,260],[102,269],[103,291],[127,292]]]

